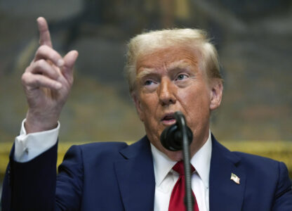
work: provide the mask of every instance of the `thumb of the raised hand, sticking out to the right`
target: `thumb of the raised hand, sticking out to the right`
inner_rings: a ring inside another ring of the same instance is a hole
[[[64,65],[62,67],[62,75],[68,80],[68,82],[73,82],[73,67],[78,57],[78,51],[69,51],[66,56],[64,56]]]

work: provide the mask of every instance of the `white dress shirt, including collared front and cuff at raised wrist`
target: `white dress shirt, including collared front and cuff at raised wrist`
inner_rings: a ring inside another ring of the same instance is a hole
[[[25,120],[22,121],[20,135],[15,138],[14,160],[17,162],[28,162],[54,146],[60,130],[60,123],[58,122],[58,127],[55,129],[26,134],[24,122]],[[176,162],[169,159],[152,144],[151,151],[155,177],[154,211],[167,211],[173,186],[179,177],[178,172],[172,170]],[[211,151],[212,141],[211,132],[209,132],[208,140],[191,159],[191,163],[196,170],[192,174],[192,190],[200,211],[209,210]]]

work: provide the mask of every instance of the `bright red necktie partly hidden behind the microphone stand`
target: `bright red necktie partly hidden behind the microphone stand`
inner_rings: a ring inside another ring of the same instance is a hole
[[[184,198],[185,198],[185,170],[183,166],[183,161],[177,162],[173,170],[180,174],[178,177],[178,181],[175,183],[173,187],[173,191],[171,193],[171,200],[169,202],[168,211],[183,211],[186,210]],[[192,166],[191,172],[194,172],[194,167]],[[194,211],[199,211],[199,207],[197,204],[196,197],[192,192],[192,196],[194,197]]]

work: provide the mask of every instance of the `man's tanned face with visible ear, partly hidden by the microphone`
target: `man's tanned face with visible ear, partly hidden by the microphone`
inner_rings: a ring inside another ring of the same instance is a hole
[[[133,94],[147,137],[159,151],[172,160],[182,160],[181,151],[166,150],[160,143],[161,132],[175,123],[180,110],[192,129],[191,154],[208,139],[211,110],[220,105],[222,84],[208,82],[199,68],[199,57],[186,47],[161,49],[138,58],[136,89]]]

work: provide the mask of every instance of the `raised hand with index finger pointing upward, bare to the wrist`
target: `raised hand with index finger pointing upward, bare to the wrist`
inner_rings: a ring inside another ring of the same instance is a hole
[[[64,58],[53,49],[48,24],[38,18],[39,49],[22,75],[28,111],[28,133],[56,127],[62,107],[73,84],[73,66],[78,52],[69,51]]]

